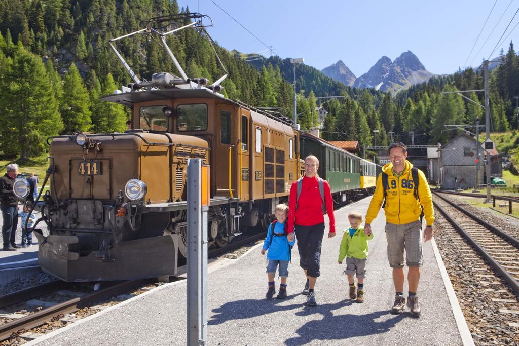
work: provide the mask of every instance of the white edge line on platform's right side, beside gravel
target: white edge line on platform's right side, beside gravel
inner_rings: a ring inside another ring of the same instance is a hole
[[[447,273],[447,269],[445,268],[445,264],[443,263],[442,255],[440,254],[440,250],[438,250],[438,246],[436,245],[436,241],[434,240],[434,238],[431,239],[431,245],[434,251],[434,257],[436,257],[436,262],[438,263],[438,267],[440,268],[443,284],[445,285],[447,297],[450,301],[450,307],[452,307],[453,309],[453,315],[454,319],[456,320],[456,325],[458,327],[458,331],[461,337],[461,342],[463,342],[464,346],[473,346],[474,340],[472,340],[472,335],[470,334],[469,326],[467,325],[467,321],[465,320],[465,315],[463,315],[463,312],[461,311],[458,297],[456,297],[454,287],[450,282],[449,274]]]

